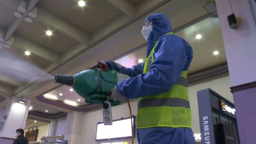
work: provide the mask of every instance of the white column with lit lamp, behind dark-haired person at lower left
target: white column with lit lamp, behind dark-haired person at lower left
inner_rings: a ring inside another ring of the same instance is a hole
[[[20,100],[24,103],[19,103]],[[0,131],[1,144],[12,144],[15,139],[15,131],[19,128],[25,128],[30,102],[31,99],[26,97],[13,97],[10,99],[6,109],[3,127]]]

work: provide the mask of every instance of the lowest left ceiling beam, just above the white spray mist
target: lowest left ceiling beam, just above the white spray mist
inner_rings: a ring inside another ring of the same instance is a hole
[[[29,41],[18,35],[13,34],[13,37],[15,40],[13,42],[13,45],[11,45],[11,47],[24,50],[24,51],[27,50],[27,51],[30,51],[30,53],[37,55],[38,57],[46,59],[47,61],[50,61],[56,64],[59,63],[61,56],[57,52],[50,50],[46,47],[40,46],[37,43]]]

